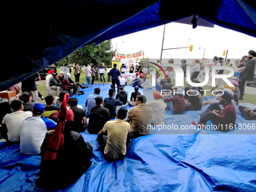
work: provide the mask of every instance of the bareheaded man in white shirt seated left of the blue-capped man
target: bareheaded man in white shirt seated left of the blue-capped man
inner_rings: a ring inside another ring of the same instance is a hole
[[[27,117],[32,117],[31,111],[23,111],[23,104],[20,100],[11,102],[10,107],[14,110],[11,114],[6,114],[2,120],[2,127],[7,128],[8,142],[20,142],[20,125]]]

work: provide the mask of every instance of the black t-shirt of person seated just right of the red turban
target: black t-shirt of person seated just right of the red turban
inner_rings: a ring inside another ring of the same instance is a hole
[[[70,109],[72,109],[74,113],[74,124],[72,126],[72,130],[78,133],[84,132],[83,117],[86,117],[84,109],[78,108],[77,106],[73,106]]]

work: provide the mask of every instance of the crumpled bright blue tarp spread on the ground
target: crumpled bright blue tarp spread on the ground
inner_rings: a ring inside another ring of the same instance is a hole
[[[100,88],[101,96],[108,96],[109,84]],[[89,90],[86,95],[77,96],[80,105],[84,105]],[[133,87],[125,90],[130,96]],[[206,99],[211,98],[203,98]],[[206,106],[202,112],[205,109]],[[165,124],[191,124],[198,120],[197,111],[182,115],[166,111],[164,120]],[[256,120],[244,120],[239,113],[236,123],[256,126]],[[255,130],[251,134],[244,130],[154,134],[157,132],[133,139],[126,157],[111,163],[99,151],[96,136],[81,133],[93,146],[93,163],[75,184],[63,191],[256,191]],[[35,186],[40,161],[39,156],[20,154],[19,145],[2,148],[0,191],[44,191]]]

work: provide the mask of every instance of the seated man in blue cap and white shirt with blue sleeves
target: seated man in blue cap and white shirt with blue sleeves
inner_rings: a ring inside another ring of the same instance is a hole
[[[40,154],[45,134],[56,127],[53,120],[41,117],[42,113],[44,113],[44,104],[35,103],[32,109],[33,116],[26,118],[20,125],[20,152],[22,154]]]

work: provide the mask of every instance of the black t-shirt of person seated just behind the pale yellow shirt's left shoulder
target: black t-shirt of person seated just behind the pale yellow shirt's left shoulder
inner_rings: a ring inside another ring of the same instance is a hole
[[[88,132],[90,134],[98,134],[108,120],[110,120],[108,108],[103,108],[102,106],[93,107],[90,111]]]

